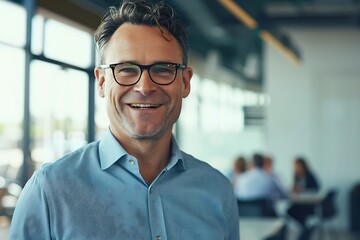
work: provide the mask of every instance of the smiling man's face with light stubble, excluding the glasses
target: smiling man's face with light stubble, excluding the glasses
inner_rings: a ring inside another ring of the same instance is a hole
[[[111,37],[104,50],[104,64],[131,62],[149,65],[156,62],[182,64],[182,53],[175,37],[164,39],[158,27],[125,23]],[[152,82],[144,70],[140,81],[120,86],[111,69],[96,69],[98,89],[106,100],[110,128],[117,138],[159,139],[171,135],[179,117],[182,98],[190,92],[192,69],[179,69],[170,85]]]

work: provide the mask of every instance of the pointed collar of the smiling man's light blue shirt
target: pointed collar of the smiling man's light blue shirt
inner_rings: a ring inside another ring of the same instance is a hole
[[[101,170],[109,168],[111,165],[116,163],[120,158],[129,155],[125,149],[119,144],[110,129],[106,131],[103,139],[99,143],[99,156]],[[185,170],[185,162],[179,145],[176,142],[174,136],[171,138],[171,156],[168,165],[165,170],[168,171],[175,165],[180,170]]]

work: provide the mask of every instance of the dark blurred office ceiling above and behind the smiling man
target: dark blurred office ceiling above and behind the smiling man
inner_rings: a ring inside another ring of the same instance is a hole
[[[18,0],[19,1],[19,0]],[[26,1],[26,0],[25,0]],[[156,0],[149,0],[156,2]],[[43,8],[95,29],[101,15],[118,0],[37,0]],[[283,53],[301,61],[296,39],[284,27],[360,27],[360,0],[166,0],[188,25],[192,52],[204,57],[216,52],[221,64],[247,82],[262,85],[263,30],[271,34]],[[232,2],[256,22],[252,28],[234,15],[224,2]],[[274,43],[274,42],[273,42]]]

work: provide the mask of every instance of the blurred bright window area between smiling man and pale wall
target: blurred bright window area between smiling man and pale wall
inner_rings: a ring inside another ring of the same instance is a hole
[[[256,92],[194,74],[179,119],[182,149],[226,173],[246,145],[244,107],[266,102],[266,96]]]

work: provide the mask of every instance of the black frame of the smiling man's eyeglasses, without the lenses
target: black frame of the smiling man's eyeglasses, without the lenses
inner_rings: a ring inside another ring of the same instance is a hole
[[[140,68],[140,75],[139,75],[139,78],[138,80],[136,80],[134,83],[131,83],[131,84],[123,84],[123,83],[119,83],[118,80],[116,80],[116,77],[115,77],[115,67],[117,65],[120,65],[120,64],[131,64],[131,65],[134,65],[134,66],[137,66]],[[170,81],[169,83],[158,83],[156,81],[154,81],[154,79],[152,79],[151,77],[151,74],[150,74],[150,68],[155,66],[155,65],[158,65],[158,64],[169,64],[169,65],[173,65],[175,67],[175,74],[174,74],[174,79],[172,81]],[[106,64],[102,64],[99,66],[99,68],[101,69],[108,69],[108,68],[111,68],[112,70],[112,74],[113,74],[113,77],[114,77],[114,80],[117,84],[121,85],[121,86],[132,86],[132,85],[135,85],[137,84],[139,81],[140,81],[140,78],[144,72],[144,70],[148,70],[148,74],[149,74],[149,77],[151,79],[152,82],[158,84],[158,85],[170,85],[172,84],[175,79],[176,79],[176,76],[177,76],[177,73],[178,73],[178,70],[179,68],[180,69],[185,69],[187,66],[185,64],[180,64],[180,63],[172,63],[172,62],[157,62],[157,63],[153,63],[153,64],[149,64],[149,65],[141,65],[141,64],[135,64],[135,63],[131,63],[131,62],[119,62],[119,63],[112,63],[112,64],[109,64],[109,65],[106,65]]]

